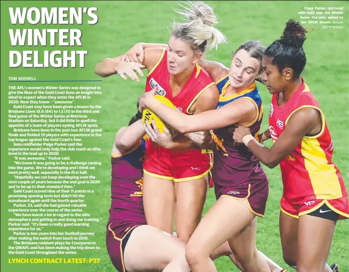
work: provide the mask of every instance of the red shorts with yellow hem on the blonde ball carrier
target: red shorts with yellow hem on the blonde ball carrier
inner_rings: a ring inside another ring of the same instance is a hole
[[[154,145],[151,141],[147,142],[143,162],[144,173],[149,176],[180,182],[202,178],[211,170],[213,153],[204,153],[199,149],[174,151]]]

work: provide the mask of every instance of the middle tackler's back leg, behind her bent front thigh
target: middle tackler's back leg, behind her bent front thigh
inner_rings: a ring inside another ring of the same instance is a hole
[[[241,201],[242,202],[242,201]],[[248,208],[246,207],[246,210]],[[236,260],[246,272],[270,272],[269,266],[256,247],[257,218],[228,240]],[[281,269],[280,269],[281,271]]]

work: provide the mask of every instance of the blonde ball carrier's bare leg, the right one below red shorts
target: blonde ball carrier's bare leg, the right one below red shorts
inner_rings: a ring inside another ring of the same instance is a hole
[[[201,220],[205,204],[208,176],[203,178],[174,182],[176,196],[177,237],[187,243]]]

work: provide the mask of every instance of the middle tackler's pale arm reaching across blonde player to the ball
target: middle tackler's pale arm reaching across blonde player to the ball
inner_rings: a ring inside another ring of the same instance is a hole
[[[233,124],[251,123],[257,114],[256,107],[248,99],[235,100],[217,110],[205,111],[195,115],[186,115],[161,103],[154,97],[155,91],[143,93],[140,97],[140,110],[152,109],[156,115],[176,129],[179,133],[209,131]],[[212,94],[211,94],[212,95]],[[208,99],[207,95],[207,99]],[[213,107],[207,101],[207,107]],[[200,108],[199,108],[200,109]]]

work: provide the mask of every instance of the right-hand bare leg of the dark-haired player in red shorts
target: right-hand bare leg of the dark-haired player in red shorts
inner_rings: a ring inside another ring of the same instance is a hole
[[[337,219],[335,219],[337,221]],[[302,215],[298,226],[298,272],[331,272],[329,257],[336,221]]]

